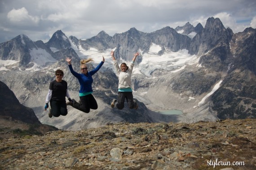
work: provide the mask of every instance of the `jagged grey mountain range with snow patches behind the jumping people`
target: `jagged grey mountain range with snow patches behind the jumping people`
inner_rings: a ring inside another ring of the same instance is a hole
[[[110,51],[118,62],[130,62],[137,51],[132,76],[138,110],[112,109],[118,78]],[[99,108],[89,114],[68,106],[68,115],[50,119],[44,111],[54,71],[64,71],[71,98],[79,100],[79,83],[71,75],[66,57],[79,72],[80,59],[91,57],[91,70],[105,57],[93,77],[93,95]],[[77,130],[115,122],[185,122],[256,117],[256,29],[234,34],[219,18],[203,27],[189,22],[152,33],[131,28],[114,36],[101,31],[85,40],[69,38],[57,30],[47,43],[31,41],[25,34],[0,44],[0,81],[18,101],[34,110],[41,123]],[[181,115],[163,111],[180,110]]]

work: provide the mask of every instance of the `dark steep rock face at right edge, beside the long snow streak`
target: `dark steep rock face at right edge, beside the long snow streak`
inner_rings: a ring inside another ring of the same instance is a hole
[[[213,109],[221,119],[256,117],[255,47],[256,30],[252,28],[234,34],[230,42],[230,54],[224,62],[228,75],[212,96]]]

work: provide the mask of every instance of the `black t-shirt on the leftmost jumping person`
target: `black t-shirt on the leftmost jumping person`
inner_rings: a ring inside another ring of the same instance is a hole
[[[51,100],[63,101],[66,100],[66,89],[67,82],[62,80],[62,82],[57,82],[56,80],[50,82],[50,90],[53,90]]]

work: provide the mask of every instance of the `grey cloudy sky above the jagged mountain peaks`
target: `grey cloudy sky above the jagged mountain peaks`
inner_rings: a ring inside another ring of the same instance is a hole
[[[234,33],[256,28],[256,0],[0,0],[0,43],[26,34],[46,43],[54,32],[91,38],[132,27],[150,33],[218,17]]]

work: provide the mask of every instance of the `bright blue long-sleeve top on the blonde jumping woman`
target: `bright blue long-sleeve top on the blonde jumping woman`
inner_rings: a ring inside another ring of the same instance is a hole
[[[77,73],[73,70],[72,65],[68,65],[70,72],[78,79],[80,84],[79,93],[88,93],[93,92],[92,84],[93,84],[93,74],[95,74],[102,67],[104,62],[102,61],[96,68],[92,71],[87,72],[87,75],[82,73]]]

